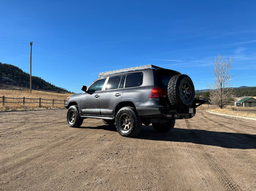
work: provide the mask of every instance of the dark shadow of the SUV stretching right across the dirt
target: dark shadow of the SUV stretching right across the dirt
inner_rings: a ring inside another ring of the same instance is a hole
[[[143,126],[137,139],[191,142],[230,149],[256,149],[256,135],[233,132],[174,128],[169,132],[162,133],[155,131],[152,126]]]

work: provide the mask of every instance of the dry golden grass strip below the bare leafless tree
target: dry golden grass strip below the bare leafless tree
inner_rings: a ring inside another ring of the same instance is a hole
[[[249,118],[256,118],[256,109],[240,109],[240,108],[211,108],[208,111],[216,112],[216,113],[223,113],[228,115],[235,115],[241,117],[249,117]]]

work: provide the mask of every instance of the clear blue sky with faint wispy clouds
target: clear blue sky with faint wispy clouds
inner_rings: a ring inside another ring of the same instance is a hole
[[[153,64],[213,84],[233,58],[233,86],[256,86],[256,0],[2,0],[0,62],[74,92],[101,71]]]

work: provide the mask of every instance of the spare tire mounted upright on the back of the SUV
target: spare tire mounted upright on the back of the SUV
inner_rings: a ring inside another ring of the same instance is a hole
[[[173,76],[168,83],[168,98],[174,107],[186,109],[192,106],[195,99],[195,88],[186,74]]]

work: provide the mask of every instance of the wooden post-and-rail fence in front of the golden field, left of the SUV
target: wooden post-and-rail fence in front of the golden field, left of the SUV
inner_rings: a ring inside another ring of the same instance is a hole
[[[51,104],[53,107],[54,105],[59,105],[62,104],[64,106],[64,104],[66,103],[67,100],[45,100],[42,98],[7,98],[5,96],[0,97],[0,103],[2,103],[2,105],[4,106],[6,103],[22,103],[24,106],[25,104],[39,104],[38,106],[41,107],[42,104]]]

